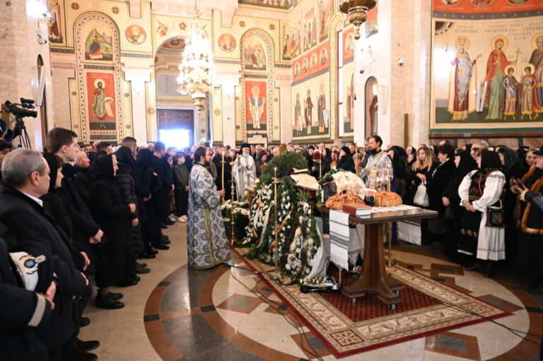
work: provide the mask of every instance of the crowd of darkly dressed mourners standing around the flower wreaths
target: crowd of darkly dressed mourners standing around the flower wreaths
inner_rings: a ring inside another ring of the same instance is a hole
[[[421,244],[487,277],[501,265],[518,273],[532,292],[543,293],[543,212],[527,201],[541,199],[543,147],[480,141],[455,148],[441,141],[385,148],[376,135],[360,148],[202,147],[203,142],[184,149],[161,142],[139,147],[132,137],[117,146],[80,146],[74,131],[54,128],[40,153],[0,138],[3,356],[95,360],[89,351],[99,342],[78,338],[80,327],[90,323],[83,312],[94,294],[96,307],[124,307],[122,293],[110,288],[136,285],[139,274],[151,271],[141,259],[169,249],[162,230],[187,222],[192,166],[204,165],[216,189],[226,190],[221,196],[230,199],[236,160],[251,156],[259,177],[281,150],[301,153],[317,179],[347,170],[369,184],[372,170],[392,170],[390,188],[405,204],[438,212],[438,218],[421,222]],[[194,160],[202,151],[207,157]],[[204,164],[204,158],[211,161]]]

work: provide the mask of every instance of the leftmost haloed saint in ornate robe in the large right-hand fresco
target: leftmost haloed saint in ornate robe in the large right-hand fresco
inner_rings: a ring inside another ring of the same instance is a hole
[[[453,69],[449,81],[448,111],[452,114],[452,120],[464,120],[469,113],[474,112],[477,108],[476,84],[472,78],[477,79],[477,67],[474,64],[481,54],[471,59],[467,52],[469,44],[467,37],[457,37],[455,58],[450,62]]]

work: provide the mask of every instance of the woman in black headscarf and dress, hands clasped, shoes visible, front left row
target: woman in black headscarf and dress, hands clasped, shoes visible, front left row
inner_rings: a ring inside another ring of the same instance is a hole
[[[117,158],[115,155],[101,155],[96,158],[90,168],[93,182],[91,195],[91,211],[93,218],[104,231],[104,238],[98,249],[98,271],[96,284],[100,290],[96,296],[96,307],[118,309],[124,307],[122,302],[106,295],[110,286],[122,283],[127,274],[127,263],[130,262],[129,227],[132,214],[136,212],[136,204],[125,204],[119,184],[117,184]]]

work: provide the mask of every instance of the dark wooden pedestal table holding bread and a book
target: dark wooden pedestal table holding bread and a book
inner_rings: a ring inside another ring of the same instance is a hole
[[[329,209],[324,206],[318,209],[322,213],[329,213]],[[368,218],[349,216],[349,223],[356,225],[358,241],[361,244],[364,242],[363,271],[350,285],[341,288],[341,293],[352,302],[356,302],[357,297],[363,297],[366,293],[375,293],[380,301],[390,309],[395,309],[395,304],[402,302],[399,290],[404,288],[404,284],[385,273],[383,223],[436,217],[438,212],[423,208],[372,213]],[[366,226],[365,234],[362,225]]]

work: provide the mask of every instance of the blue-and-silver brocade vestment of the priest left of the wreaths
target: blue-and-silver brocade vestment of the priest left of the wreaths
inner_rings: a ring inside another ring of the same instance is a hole
[[[189,180],[187,249],[189,267],[205,269],[230,259],[228,240],[213,178],[201,162],[194,164]]]

